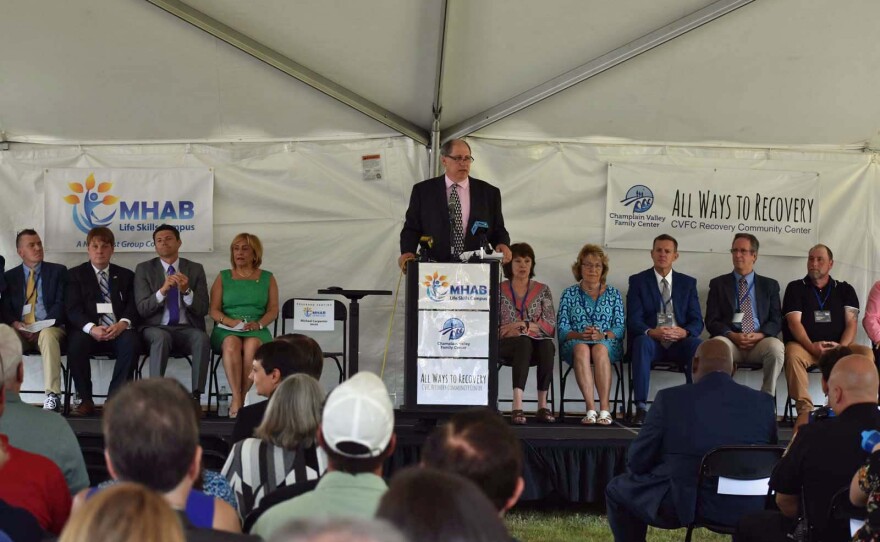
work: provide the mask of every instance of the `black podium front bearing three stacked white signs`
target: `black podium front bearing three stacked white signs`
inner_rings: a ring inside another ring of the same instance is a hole
[[[498,263],[410,263],[406,409],[495,407]]]

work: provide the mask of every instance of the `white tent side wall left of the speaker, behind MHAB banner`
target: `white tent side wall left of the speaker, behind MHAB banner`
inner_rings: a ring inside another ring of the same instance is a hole
[[[7,267],[19,263],[15,232],[26,227],[43,231],[45,168],[211,167],[214,252],[187,253],[184,233],[184,257],[205,266],[210,286],[217,273],[230,265],[232,238],[244,231],[256,234],[264,246],[263,267],[274,273],[282,302],[291,297],[323,297],[316,292],[327,286],[394,290],[399,276],[398,234],[409,189],[427,172],[424,149],[403,137],[263,145],[12,147],[0,152],[0,186],[5,187],[0,228],[6,232],[0,237],[0,254],[6,256]],[[368,154],[381,155],[382,180],[362,180],[361,156]],[[113,260],[134,269],[154,256],[117,252]],[[86,255],[47,253],[46,259],[74,266]],[[364,369],[380,370],[392,303],[393,297],[361,302]],[[402,336],[398,312],[393,337]],[[402,350],[401,341],[392,342],[386,371],[392,390],[403,389]],[[26,369],[25,388],[40,389],[40,364],[34,360]],[[107,389],[111,369],[110,363],[93,363],[97,393]],[[169,371],[189,385],[185,363],[170,363]],[[221,369],[221,379],[222,373]],[[330,362],[322,381],[329,389],[336,377]]]

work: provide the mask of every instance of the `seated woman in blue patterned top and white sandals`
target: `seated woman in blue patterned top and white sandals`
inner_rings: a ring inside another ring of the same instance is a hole
[[[623,356],[623,298],[617,288],[605,283],[608,255],[601,247],[584,245],[571,271],[578,283],[562,292],[556,317],[562,359],[574,364],[574,376],[587,404],[581,423],[610,425],[611,363],[618,363]],[[598,413],[593,400],[593,370]]]

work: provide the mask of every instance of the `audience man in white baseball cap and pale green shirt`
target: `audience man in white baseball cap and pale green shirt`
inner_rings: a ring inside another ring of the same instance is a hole
[[[294,519],[371,518],[388,486],[382,464],[394,452],[394,407],[382,380],[360,372],[327,397],[318,444],[329,466],[317,487],[266,510],[251,530],[268,539]]]

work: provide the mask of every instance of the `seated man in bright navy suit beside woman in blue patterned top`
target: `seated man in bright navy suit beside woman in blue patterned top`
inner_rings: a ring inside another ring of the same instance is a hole
[[[672,272],[678,259],[678,241],[658,235],[651,249],[654,267],[629,278],[626,293],[626,330],[636,401],[635,425],[647,414],[651,365],[675,361],[691,382],[691,360],[700,346],[703,315],[697,297],[697,279]]]

